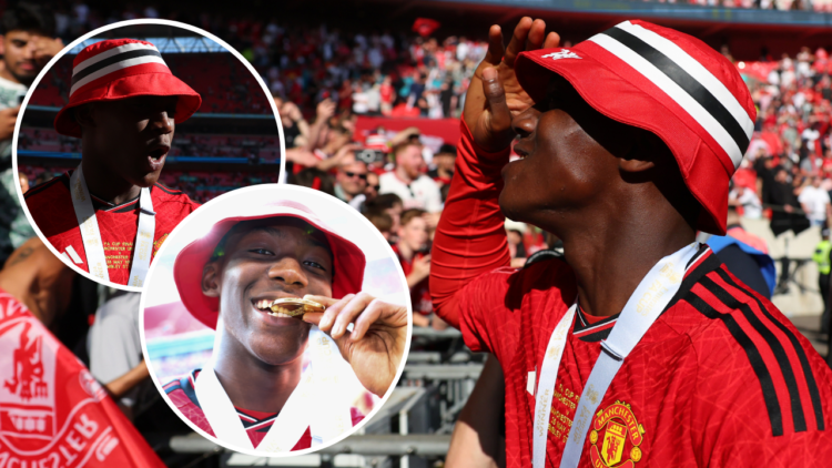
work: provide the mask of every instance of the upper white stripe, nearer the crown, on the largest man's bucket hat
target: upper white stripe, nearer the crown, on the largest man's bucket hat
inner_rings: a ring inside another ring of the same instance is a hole
[[[667,55],[668,59],[672,60],[687,71],[693,79],[704,87],[708,91],[717,98],[722,105],[726,106],[728,112],[733,115],[737,123],[740,124],[742,130],[745,131],[745,135],[751,140],[751,135],[754,133],[754,122],[749,118],[748,112],[742,108],[737,98],[728,91],[724,84],[717,77],[713,75],[707,68],[702,67],[698,60],[693,59],[682,48],[673,43],[673,41],[650,31],[638,24],[633,24],[629,21],[625,21],[616,28],[622,29],[632,35],[641,39],[648,44],[652,45],[653,49]]]

